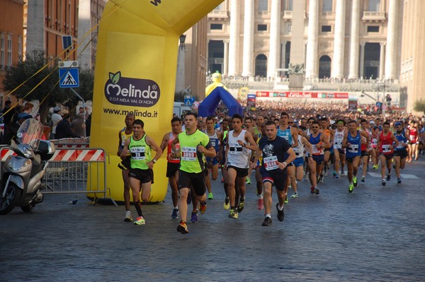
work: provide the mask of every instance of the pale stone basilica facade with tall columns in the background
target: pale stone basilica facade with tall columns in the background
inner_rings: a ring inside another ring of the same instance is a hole
[[[297,55],[306,78],[398,79],[402,17],[398,0],[225,0],[208,14],[208,69],[274,78]]]

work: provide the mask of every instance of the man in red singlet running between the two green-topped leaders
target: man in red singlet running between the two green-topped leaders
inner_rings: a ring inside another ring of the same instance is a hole
[[[171,200],[173,201],[173,213],[172,218],[177,218],[179,214],[179,189],[177,182],[179,180],[179,166],[180,158],[170,158],[171,155],[171,142],[181,133],[181,119],[179,117],[173,117],[171,119],[171,131],[166,133],[162,137],[161,149],[164,152],[166,149],[166,177],[169,179],[171,187]],[[180,148],[179,143],[176,144],[176,148]]]

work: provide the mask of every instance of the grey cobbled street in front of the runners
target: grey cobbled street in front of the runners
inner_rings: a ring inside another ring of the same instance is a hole
[[[143,206],[144,226],[123,222],[123,206],[47,195],[31,214],[0,217],[0,281],[425,281],[424,168],[410,163],[386,187],[370,170],[353,194],[346,177],[327,177],[319,196],[300,182],[285,221],[273,208],[269,227],[254,184],[234,220],[217,181],[188,235],[176,232],[170,193]]]

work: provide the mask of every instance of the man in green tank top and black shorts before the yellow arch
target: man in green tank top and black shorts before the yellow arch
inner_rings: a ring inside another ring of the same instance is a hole
[[[145,218],[142,213],[142,204],[140,204],[140,186],[142,186],[142,201],[149,201],[150,189],[153,180],[154,163],[162,155],[161,148],[155,143],[154,139],[145,134],[143,127],[145,124],[141,119],[136,119],[132,124],[133,136],[124,143],[121,158],[124,159],[128,153],[131,153],[130,160],[130,187],[132,190],[133,203],[139,215],[135,224],[145,224]],[[156,151],[154,158],[151,156],[151,150]]]

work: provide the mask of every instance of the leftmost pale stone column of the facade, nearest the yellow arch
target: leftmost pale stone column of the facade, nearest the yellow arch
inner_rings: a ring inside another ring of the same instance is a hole
[[[239,2],[230,1],[230,36],[229,36],[229,76],[237,75],[237,58],[239,51]]]

